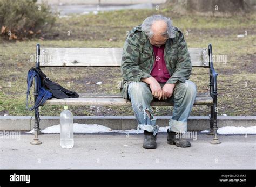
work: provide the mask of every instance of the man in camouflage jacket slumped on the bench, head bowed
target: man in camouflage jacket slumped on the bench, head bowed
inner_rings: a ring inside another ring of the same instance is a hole
[[[121,92],[131,100],[138,129],[144,130],[144,148],[157,147],[159,126],[150,107],[152,100],[174,103],[167,143],[191,146],[188,140],[177,137],[177,133],[187,131],[187,118],[196,98],[196,85],[188,80],[191,70],[183,33],[172,25],[170,18],[150,16],[128,33],[122,54]]]

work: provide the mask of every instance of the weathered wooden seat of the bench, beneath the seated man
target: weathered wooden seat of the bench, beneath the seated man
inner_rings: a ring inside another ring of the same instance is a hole
[[[93,95],[93,94],[79,94],[79,98],[56,99],[52,98],[45,102],[45,105],[73,105],[73,106],[121,106],[131,105],[121,95]],[[152,106],[172,106],[173,103],[167,102],[152,102]],[[207,93],[198,93],[194,105],[212,105],[212,98]]]

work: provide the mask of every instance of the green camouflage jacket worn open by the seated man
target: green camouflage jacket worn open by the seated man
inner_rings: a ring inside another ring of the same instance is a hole
[[[166,67],[171,78],[166,83],[174,84],[188,80],[192,70],[190,54],[183,33],[174,27],[175,37],[169,38],[165,43],[164,57]],[[131,30],[126,38],[121,74],[123,82],[120,87],[122,96],[127,99],[127,87],[132,81],[141,81],[141,78],[151,77],[154,64],[153,46],[150,44],[141,25]]]

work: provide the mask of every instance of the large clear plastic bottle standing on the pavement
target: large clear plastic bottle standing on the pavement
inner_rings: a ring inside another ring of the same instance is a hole
[[[64,106],[60,113],[60,146],[62,148],[72,148],[74,146],[73,114]]]

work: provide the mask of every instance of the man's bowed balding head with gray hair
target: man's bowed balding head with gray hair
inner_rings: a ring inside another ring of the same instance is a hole
[[[173,37],[173,26],[170,18],[162,15],[152,15],[147,17],[142,24],[142,30],[145,32],[152,45],[161,46],[165,44],[168,38]]]

